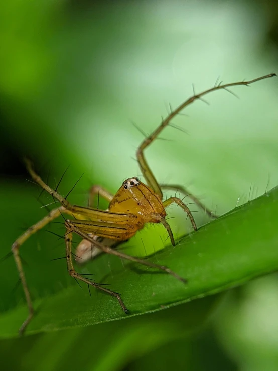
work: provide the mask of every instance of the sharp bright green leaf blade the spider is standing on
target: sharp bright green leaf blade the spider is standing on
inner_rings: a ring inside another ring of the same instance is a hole
[[[275,271],[277,202],[278,187],[185,236],[175,248],[168,246],[148,258],[186,277],[187,285],[142,265],[128,263],[123,268],[117,257],[103,255],[91,263],[92,272],[101,283],[109,283],[112,290],[121,293],[130,314],[125,315],[109,295],[92,288],[90,298],[86,286],[81,291],[76,285],[37,300],[38,313],[27,333],[89,326],[158,311]],[[4,313],[0,317],[2,336],[15,335],[26,315],[26,307]]]

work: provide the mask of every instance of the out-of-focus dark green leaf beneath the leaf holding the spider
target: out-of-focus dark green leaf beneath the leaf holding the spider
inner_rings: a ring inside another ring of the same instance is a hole
[[[190,338],[218,301],[219,295],[213,295],[128,321],[0,340],[0,358],[13,370],[37,370],[40,364],[40,371],[120,371],[132,359],[167,346],[173,340]],[[17,349],[16,357],[11,357],[12,349]],[[185,352],[189,353],[189,349],[184,349],[183,359]]]

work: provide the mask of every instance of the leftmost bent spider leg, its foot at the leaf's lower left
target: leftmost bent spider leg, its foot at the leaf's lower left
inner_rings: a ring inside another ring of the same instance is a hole
[[[33,314],[34,314],[34,308],[32,305],[31,295],[30,291],[28,289],[28,285],[26,283],[25,273],[22,266],[22,261],[19,255],[19,248],[20,246],[29,238],[32,236],[32,234],[36,233],[38,230],[42,229],[44,226],[46,226],[48,223],[50,223],[52,220],[58,218],[61,213],[69,213],[63,206],[60,206],[56,209],[51,210],[51,212],[46,215],[42,220],[28,228],[12,245],[12,252],[14,254],[15,262],[17,265],[17,269],[19,271],[20,280],[23,286],[24,294],[26,297],[26,302],[28,305],[29,314],[26,320],[23,322],[21,328],[19,329],[19,334],[22,335],[24,330],[26,329],[26,326],[31,321]]]

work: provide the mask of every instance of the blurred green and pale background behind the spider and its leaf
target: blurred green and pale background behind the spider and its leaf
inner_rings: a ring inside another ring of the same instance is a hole
[[[277,73],[277,9],[262,1],[3,2],[0,255],[46,214],[36,200],[40,189],[25,181],[23,156],[35,160],[44,179],[49,173],[52,186],[70,164],[62,194],[84,173],[70,196],[74,203],[86,205],[91,184],[115,192],[125,178],[140,175],[134,156],[143,137],[132,121],[150,133],[169,103],[175,107],[192,94],[192,83],[200,92],[218,77],[233,82]],[[146,152],[159,182],[188,187],[219,214],[278,184],[277,80],[233,91],[240,99],[220,91],[206,97],[209,106],[194,103],[188,116],[175,120],[188,134],[167,128],[162,137],[169,141]],[[52,199],[42,195],[41,202]],[[175,236],[187,232],[182,212],[171,214]],[[207,221],[195,215],[199,225]],[[63,233],[58,225],[51,230]],[[161,233],[148,228],[126,250],[150,254],[162,248]],[[45,231],[26,243],[22,256],[33,297],[76,285],[64,262],[50,263],[63,251]],[[5,314],[24,303],[21,288],[14,290],[12,259],[1,263],[0,276]],[[277,281],[263,277],[128,321],[1,340],[0,364],[14,370],[276,370]]]

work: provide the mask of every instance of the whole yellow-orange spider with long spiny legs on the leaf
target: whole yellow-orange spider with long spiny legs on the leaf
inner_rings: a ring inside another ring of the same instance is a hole
[[[141,145],[136,151],[136,157],[138,164],[140,166],[141,172],[145,178],[146,184],[141,182],[137,177],[126,179],[117,193],[113,196],[107,192],[102,187],[92,187],[90,191],[90,199],[93,199],[95,194],[107,199],[109,203],[108,210],[99,210],[93,207],[82,207],[76,206],[69,203],[67,196],[63,197],[56,190],[49,187],[35,172],[32,162],[28,159],[25,160],[27,170],[29,171],[32,179],[38,183],[45,191],[47,191],[52,197],[54,197],[61,204],[60,207],[53,209],[47,216],[42,220],[31,226],[26,230],[13,244],[12,252],[15,258],[15,262],[19,271],[20,280],[24,289],[29,315],[27,319],[23,322],[19,333],[22,334],[29,322],[31,321],[34,315],[34,309],[32,305],[32,300],[28,285],[26,282],[22,261],[19,255],[20,246],[34,233],[42,229],[48,223],[53,221],[55,218],[59,217],[61,214],[67,214],[74,219],[65,219],[65,242],[66,242],[66,261],[67,268],[70,276],[75,279],[81,280],[88,285],[92,285],[98,290],[106,292],[113,297],[115,297],[121,308],[125,313],[128,312],[123,300],[121,299],[120,294],[113,292],[112,290],[107,289],[106,287],[101,286],[101,284],[94,283],[87,278],[83,277],[81,274],[77,273],[74,269],[72,261],[72,234],[75,233],[83,238],[82,242],[79,244],[78,249],[80,254],[86,257],[86,252],[91,255],[93,249],[101,251],[108,254],[116,255],[120,258],[131,260],[137,263],[144,264],[153,268],[160,269],[166,273],[174,276],[179,281],[185,283],[186,279],[180,277],[177,273],[173,272],[166,266],[159,266],[150,261],[143,259],[138,259],[129,255],[126,255],[122,252],[119,252],[115,249],[116,245],[128,240],[136,234],[136,232],[144,227],[146,223],[162,223],[166,228],[168,235],[170,237],[171,243],[175,245],[173,233],[171,228],[165,219],[166,217],[166,208],[175,203],[177,206],[181,207],[189,217],[191,225],[194,230],[197,230],[195,220],[192,216],[187,205],[180,200],[178,197],[170,197],[163,201],[163,188],[173,188],[175,190],[179,189],[181,192],[188,194],[188,196],[203,210],[205,210],[209,215],[212,215],[212,212],[207,210],[205,206],[193,195],[191,195],[186,189],[179,186],[165,186],[160,185],[156,180],[152,170],[150,169],[144,155],[145,149],[158,137],[162,130],[166,126],[171,126],[172,119],[177,116],[185,107],[193,103],[197,99],[201,99],[202,96],[211,93],[216,90],[225,89],[228,87],[237,86],[237,85],[246,85],[252,84],[254,82],[276,76],[274,73],[258,77],[250,81],[241,81],[234,82],[225,85],[215,84],[211,89],[203,91],[200,94],[194,94],[192,97],[183,102],[179,107],[172,111],[165,119],[162,119],[160,125],[155,129],[155,131],[146,137]]]

